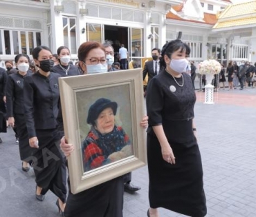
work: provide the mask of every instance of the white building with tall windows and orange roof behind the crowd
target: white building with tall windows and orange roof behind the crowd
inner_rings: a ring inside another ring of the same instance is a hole
[[[229,0],[1,0],[0,67],[16,54],[31,55],[37,45],[47,45],[53,53],[66,45],[75,61],[81,43],[105,40],[113,41],[116,52],[123,43],[129,60],[141,66],[152,48],[179,34],[196,63],[208,58],[224,64],[256,61],[254,24],[232,27],[234,20],[247,19],[232,12],[239,7],[244,6]]]

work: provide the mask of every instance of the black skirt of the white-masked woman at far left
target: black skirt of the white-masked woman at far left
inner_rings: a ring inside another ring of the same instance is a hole
[[[19,138],[19,156],[21,161],[31,161],[33,149],[29,145],[28,130],[24,114],[15,114],[15,128]]]

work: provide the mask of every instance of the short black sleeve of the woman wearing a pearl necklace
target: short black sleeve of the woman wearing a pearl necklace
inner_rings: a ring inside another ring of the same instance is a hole
[[[149,127],[162,125],[163,89],[161,83],[154,77],[147,87],[147,116],[149,116]]]

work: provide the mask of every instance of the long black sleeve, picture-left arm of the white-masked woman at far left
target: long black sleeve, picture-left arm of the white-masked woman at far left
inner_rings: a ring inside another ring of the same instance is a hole
[[[15,92],[14,81],[11,76],[7,76],[7,83],[6,83],[7,118],[13,117],[14,92]]]

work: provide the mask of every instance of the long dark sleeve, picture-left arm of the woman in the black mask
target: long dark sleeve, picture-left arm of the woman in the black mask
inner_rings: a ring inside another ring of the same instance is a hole
[[[26,76],[24,79],[24,113],[29,138],[36,136],[34,120],[34,92],[33,79],[31,76]]]

